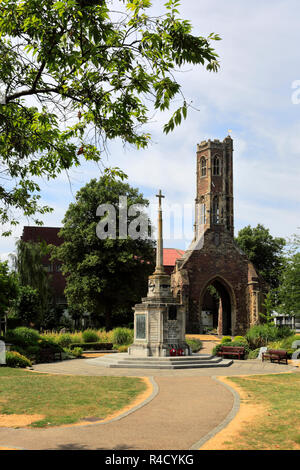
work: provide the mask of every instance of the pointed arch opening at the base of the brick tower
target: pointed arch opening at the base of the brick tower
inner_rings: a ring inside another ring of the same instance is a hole
[[[210,289],[210,286],[213,289]],[[235,329],[235,304],[233,289],[228,282],[219,276],[210,279],[200,294],[201,330],[204,331],[207,325],[210,325],[217,330],[218,335],[232,336]]]

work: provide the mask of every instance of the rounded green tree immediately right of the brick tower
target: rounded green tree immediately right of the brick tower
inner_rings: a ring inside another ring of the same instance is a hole
[[[273,237],[269,229],[247,225],[238,232],[236,242],[271,289],[277,288],[285,266],[284,238]]]

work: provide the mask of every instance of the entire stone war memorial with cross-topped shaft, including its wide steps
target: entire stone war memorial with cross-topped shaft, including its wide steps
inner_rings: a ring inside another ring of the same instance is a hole
[[[163,266],[162,206],[159,191],[156,267],[149,276],[148,294],[134,307],[134,342],[128,353],[97,359],[98,365],[115,368],[191,369],[228,367],[231,359],[193,354],[185,342],[186,307],[171,291],[171,276]]]

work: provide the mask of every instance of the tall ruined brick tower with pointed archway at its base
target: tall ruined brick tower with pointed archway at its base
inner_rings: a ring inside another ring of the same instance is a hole
[[[262,285],[234,241],[231,137],[198,144],[196,161],[194,239],[176,262],[173,295],[185,305],[188,333],[242,334],[259,320]]]

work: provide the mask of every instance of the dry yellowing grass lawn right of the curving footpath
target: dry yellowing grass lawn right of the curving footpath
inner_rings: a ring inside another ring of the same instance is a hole
[[[249,405],[265,412],[226,442],[228,450],[300,449],[300,374],[228,377],[247,393]]]

